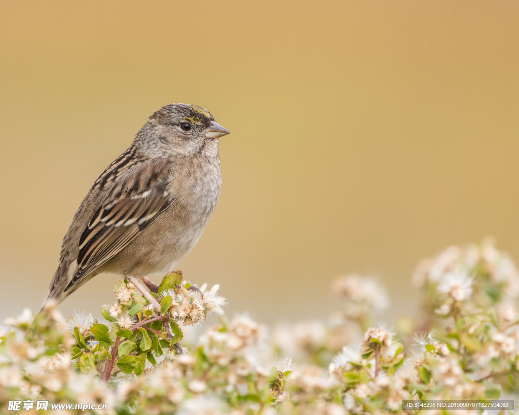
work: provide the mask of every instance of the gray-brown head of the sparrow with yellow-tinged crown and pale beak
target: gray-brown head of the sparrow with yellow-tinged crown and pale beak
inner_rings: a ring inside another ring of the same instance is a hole
[[[213,156],[218,153],[218,138],[229,133],[205,108],[170,104],[148,118],[134,144],[148,156]]]

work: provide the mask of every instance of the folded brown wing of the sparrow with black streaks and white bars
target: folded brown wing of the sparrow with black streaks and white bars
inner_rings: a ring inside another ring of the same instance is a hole
[[[164,160],[139,163],[104,184],[111,189],[81,234],[77,272],[64,293],[122,251],[168,209],[173,200],[166,189],[170,166]]]

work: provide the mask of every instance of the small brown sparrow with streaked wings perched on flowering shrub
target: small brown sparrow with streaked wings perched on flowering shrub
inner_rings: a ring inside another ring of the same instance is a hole
[[[150,116],[81,202],[44,308],[100,273],[120,275],[141,292],[154,285],[147,275],[171,273],[214,211],[222,186],[218,139],[229,133],[197,105],[170,104]]]

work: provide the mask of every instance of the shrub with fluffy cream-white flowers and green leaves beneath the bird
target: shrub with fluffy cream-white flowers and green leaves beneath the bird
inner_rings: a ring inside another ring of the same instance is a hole
[[[359,275],[333,282],[343,307],[328,324],[270,335],[248,316],[226,320],[219,287],[191,285],[180,273],[145,296],[121,281],[99,319],[64,321],[52,305],[36,317],[27,309],[0,332],[0,405],[46,399],[91,404],[87,413],[343,415],[400,413],[402,399],[515,397],[519,274],[510,258],[489,241],[449,247],[421,262],[413,281],[421,315],[395,329],[373,324],[388,298]],[[220,324],[183,347],[183,329],[208,313]],[[100,404],[107,409],[91,409]],[[66,411],[75,412],[83,409]]]

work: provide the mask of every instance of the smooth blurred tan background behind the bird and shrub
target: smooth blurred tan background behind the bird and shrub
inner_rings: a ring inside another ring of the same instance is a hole
[[[519,259],[516,1],[0,3],[0,317],[37,311],[95,178],[162,105],[210,110],[223,188],[180,264],[229,313],[325,316],[340,273],[411,313],[417,262]],[[113,302],[98,276],[61,309]]]

